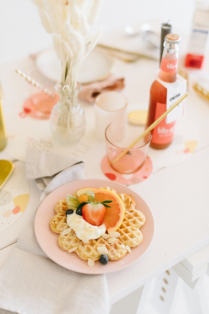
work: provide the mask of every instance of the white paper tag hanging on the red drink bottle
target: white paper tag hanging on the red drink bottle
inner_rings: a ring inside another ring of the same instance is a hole
[[[179,74],[176,76],[176,81],[167,83],[157,78],[157,81],[167,89],[166,108],[168,110],[175,102],[186,93],[187,81]],[[164,112],[165,112],[164,111]],[[163,112],[162,112],[163,113]],[[169,114],[166,116],[166,123],[174,122],[176,119],[185,115],[185,99],[180,102]]]

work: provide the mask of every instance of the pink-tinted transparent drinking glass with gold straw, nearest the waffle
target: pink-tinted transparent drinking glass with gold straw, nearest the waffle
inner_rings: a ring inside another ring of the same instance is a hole
[[[127,147],[144,132],[147,126],[133,119],[121,121],[120,125],[113,121],[105,131],[106,153],[110,166],[120,173],[138,171],[147,158],[151,132],[141,138],[132,148]],[[116,160],[120,154],[123,155]],[[124,154],[125,153],[125,154]]]

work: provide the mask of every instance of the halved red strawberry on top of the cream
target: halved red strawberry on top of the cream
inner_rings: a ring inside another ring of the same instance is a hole
[[[83,219],[93,226],[102,225],[103,217],[105,214],[105,206],[101,203],[91,204],[88,203],[82,208]]]

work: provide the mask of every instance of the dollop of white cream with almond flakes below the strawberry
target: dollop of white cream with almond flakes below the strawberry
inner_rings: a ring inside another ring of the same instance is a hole
[[[83,216],[77,215],[76,210],[73,214],[67,215],[67,224],[84,243],[88,243],[91,239],[98,239],[106,231],[104,224],[98,227],[93,226],[84,220]]]

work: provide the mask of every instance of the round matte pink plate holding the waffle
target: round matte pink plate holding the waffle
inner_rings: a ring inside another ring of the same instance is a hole
[[[118,192],[133,195],[136,200],[136,209],[142,211],[146,216],[145,224],[140,228],[143,234],[143,241],[139,246],[131,249],[131,253],[119,259],[118,261],[109,261],[106,265],[102,265],[96,261],[94,266],[89,267],[87,261],[82,260],[75,252],[67,252],[57,244],[58,234],[50,229],[50,219],[55,215],[55,203],[66,197],[66,194],[73,194],[81,187],[107,187],[115,189]],[[35,236],[44,253],[55,263],[69,270],[78,273],[100,274],[110,273],[123,269],[133,262],[137,261],[148,250],[154,237],[154,217],[151,209],[144,200],[131,189],[117,182],[107,180],[78,180],[67,183],[58,187],[51,192],[40,204],[34,221]]]

